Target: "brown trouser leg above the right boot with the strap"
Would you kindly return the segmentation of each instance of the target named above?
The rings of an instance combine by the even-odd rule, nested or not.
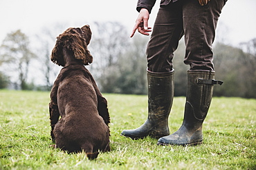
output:
[[[214,70],[212,43],[225,3],[226,0],[212,0],[206,6],[200,6],[198,1],[184,1],[184,63],[190,65],[190,70]]]

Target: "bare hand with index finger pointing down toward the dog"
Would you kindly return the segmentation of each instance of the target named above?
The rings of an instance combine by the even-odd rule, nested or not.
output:
[[[134,36],[134,33],[138,29],[138,32],[143,35],[149,35],[148,32],[151,32],[151,28],[147,26],[147,23],[149,21],[149,11],[145,8],[141,8],[140,14],[138,14],[138,18],[136,20],[136,23],[134,25],[134,29],[131,32],[131,36]]]

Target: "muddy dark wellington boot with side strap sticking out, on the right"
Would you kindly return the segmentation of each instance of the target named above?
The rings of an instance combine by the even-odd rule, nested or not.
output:
[[[212,100],[214,71],[188,70],[187,98],[183,124],[178,131],[158,140],[158,145],[198,145],[203,142],[202,124]]]

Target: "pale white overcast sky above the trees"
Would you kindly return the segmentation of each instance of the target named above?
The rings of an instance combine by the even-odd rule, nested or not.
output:
[[[160,1],[156,1],[150,16],[151,26]],[[93,21],[119,21],[130,33],[138,16],[136,3],[137,0],[0,0],[0,43],[12,31],[21,29],[33,35],[61,22],[68,23],[68,27],[80,27]],[[228,0],[217,28],[225,43],[238,45],[256,38],[255,9],[256,0]]]

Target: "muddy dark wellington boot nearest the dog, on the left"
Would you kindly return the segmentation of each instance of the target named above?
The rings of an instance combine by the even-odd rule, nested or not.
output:
[[[167,73],[147,71],[148,117],[137,129],[122,131],[121,135],[132,139],[160,138],[170,134],[168,116],[174,97],[174,70]]]

